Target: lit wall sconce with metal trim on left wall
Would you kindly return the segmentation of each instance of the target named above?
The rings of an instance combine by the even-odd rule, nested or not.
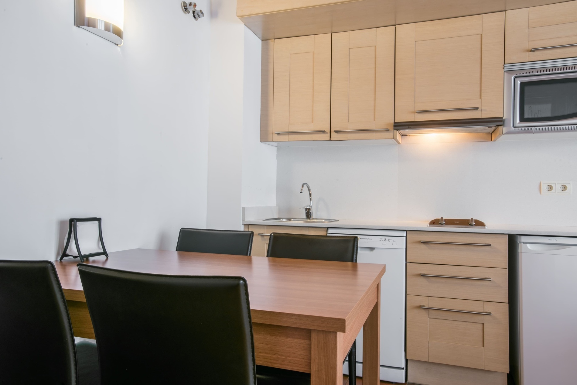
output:
[[[74,0],[74,25],[122,46],[124,0]]]

